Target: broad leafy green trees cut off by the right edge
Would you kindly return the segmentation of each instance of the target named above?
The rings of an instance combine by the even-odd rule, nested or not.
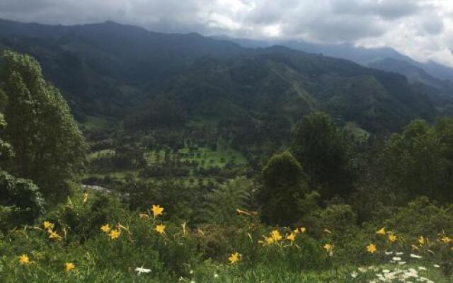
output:
[[[384,180],[400,201],[414,195],[452,200],[453,120],[430,126],[415,120],[401,134],[393,134],[382,152]]]

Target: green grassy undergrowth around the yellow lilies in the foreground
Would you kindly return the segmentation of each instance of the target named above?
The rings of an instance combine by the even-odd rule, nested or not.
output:
[[[119,202],[106,200],[101,195],[84,195],[76,190],[66,203],[48,212],[35,225],[0,233],[0,282],[450,282],[442,275],[442,269],[434,266],[440,258],[430,258],[432,253],[425,248],[450,250],[452,243],[432,241],[424,248],[420,244],[420,256],[423,257],[414,259],[409,255],[413,241],[386,243],[386,236],[376,236],[373,231],[370,236],[381,237],[382,249],[374,254],[367,253],[363,258],[357,257],[355,263],[348,264],[341,256],[340,245],[338,250],[333,248],[333,253],[326,253],[323,250],[325,239],[312,238],[299,230],[290,240],[285,235],[292,229],[260,226],[258,217],[246,213],[235,214],[241,224],[229,227],[236,230],[232,246],[226,255],[214,260],[200,256],[200,243],[206,241],[205,237],[210,238],[209,233],[185,226],[185,222],[180,225],[166,220],[166,210],[161,215],[153,215],[152,210],[131,212]],[[234,209],[231,213],[235,213]],[[111,218],[112,214],[116,215],[115,219]],[[50,221],[50,229],[45,229],[44,221]],[[108,231],[100,229],[107,224]],[[166,225],[165,233],[156,231],[160,224]],[[257,229],[258,226],[261,229]],[[113,229],[120,231],[116,238],[110,236]],[[50,238],[52,231],[59,238]],[[263,233],[276,240],[268,244],[259,243]],[[401,235],[400,238],[408,237]],[[428,242],[424,244],[428,245]],[[366,243],[358,245],[366,253]],[[384,253],[388,250],[404,250],[404,253]],[[241,255],[231,264],[228,255],[235,252]],[[21,255],[28,257],[30,262],[21,265]],[[394,255],[401,259],[395,261]],[[402,260],[407,263],[398,264]],[[64,270],[68,262],[74,264],[74,270]],[[309,267],[307,262],[316,263]],[[357,265],[361,262],[366,263]],[[135,269],[141,266],[149,268],[150,272],[139,275]],[[404,275],[410,268],[415,270],[412,272],[415,275],[406,276],[408,279],[372,281],[394,271],[397,272],[394,275]]]

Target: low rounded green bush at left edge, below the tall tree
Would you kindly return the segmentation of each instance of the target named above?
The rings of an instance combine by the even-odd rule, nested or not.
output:
[[[0,171],[0,224],[2,229],[32,223],[45,212],[39,188],[30,180]]]

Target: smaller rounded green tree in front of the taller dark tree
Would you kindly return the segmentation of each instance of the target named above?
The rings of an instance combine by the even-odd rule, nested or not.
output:
[[[285,151],[272,156],[261,174],[263,186],[258,192],[258,201],[263,220],[269,224],[294,224],[302,216],[299,203],[308,192],[302,166]]]

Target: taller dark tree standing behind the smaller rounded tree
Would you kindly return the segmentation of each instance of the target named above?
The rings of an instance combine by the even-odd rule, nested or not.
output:
[[[351,149],[340,127],[323,112],[303,117],[293,133],[291,152],[324,198],[351,192]]]

